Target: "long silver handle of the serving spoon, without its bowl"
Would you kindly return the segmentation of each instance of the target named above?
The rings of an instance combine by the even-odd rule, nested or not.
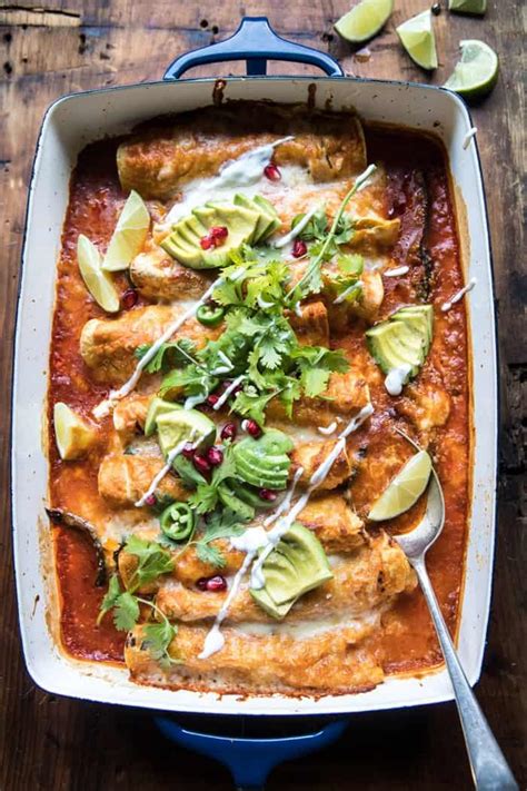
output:
[[[517,791],[518,784],[460,665],[437,603],[436,594],[425,566],[425,560],[422,557],[412,558],[410,563],[419,579],[450,674],[474,784],[478,791]]]

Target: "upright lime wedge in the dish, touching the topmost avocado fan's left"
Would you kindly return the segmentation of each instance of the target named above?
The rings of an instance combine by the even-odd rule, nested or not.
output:
[[[107,271],[128,269],[130,261],[142,249],[150,227],[150,215],[145,201],[133,189],[117,221],[102,261]]]

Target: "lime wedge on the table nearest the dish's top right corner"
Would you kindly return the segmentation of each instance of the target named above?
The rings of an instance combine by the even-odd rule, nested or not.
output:
[[[461,60],[459,60],[445,88],[468,99],[489,93],[498,79],[498,56],[485,41],[470,39],[460,41]]]

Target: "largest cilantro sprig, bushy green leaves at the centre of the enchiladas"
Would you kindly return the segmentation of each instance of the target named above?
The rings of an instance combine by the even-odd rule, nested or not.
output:
[[[344,373],[348,363],[341,352],[298,342],[286,315],[287,285],[284,261],[262,264],[245,248],[235,265],[223,270],[223,283],[213,294],[226,308],[223,333],[196,352],[193,363],[171,370],[161,383],[160,395],[182,392],[199,403],[222,379],[243,374],[242,389],[232,395],[231,409],[264,425],[272,398],[280,398],[291,416],[294,403],[302,394],[321,394],[331,372]]]

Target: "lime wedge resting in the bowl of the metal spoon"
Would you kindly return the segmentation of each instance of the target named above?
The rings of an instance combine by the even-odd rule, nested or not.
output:
[[[371,522],[391,520],[417,503],[426,490],[431,473],[431,458],[419,451],[395,476],[368,514]]]

